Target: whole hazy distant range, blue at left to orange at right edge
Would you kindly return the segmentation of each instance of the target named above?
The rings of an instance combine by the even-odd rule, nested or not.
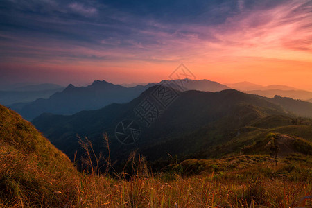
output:
[[[167,85],[168,87],[177,89],[181,92],[187,90],[199,90],[205,92],[218,92],[224,89],[229,89],[230,87],[239,89],[242,92],[248,94],[258,94],[261,96],[266,96],[268,98],[273,98],[275,95],[290,97],[295,99],[300,99],[302,101],[309,100],[312,97],[312,92],[303,91],[295,89],[293,87],[288,87],[284,85],[269,85],[261,86],[255,85],[253,83],[243,82],[222,85],[217,82],[210,80],[162,80],[159,83],[150,83],[147,85],[136,85],[135,87],[123,87],[121,85],[114,85],[112,83],[107,83],[105,80],[96,80],[92,85],[87,87],[75,87],[73,85],[68,85],[61,92],[56,92],[51,95],[49,98],[46,98],[47,95],[50,95],[51,92],[42,92],[42,91],[33,91],[33,92],[3,92],[5,94],[5,101],[1,100],[0,92],[0,102],[2,101],[3,105],[8,105],[13,110],[16,110],[23,116],[25,119],[32,120],[36,116],[46,112],[52,114],[75,114],[81,110],[97,110],[111,103],[127,103],[133,98],[136,98],[148,89],[155,85]],[[46,86],[28,86],[24,89],[38,89],[38,87],[53,87],[49,84]],[[253,89],[253,90],[251,90]],[[257,89],[257,90],[256,90]],[[60,89],[57,89],[59,91]],[[55,92],[55,91],[54,91]],[[44,93],[43,98],[38,98],[36,101],[32,102],[17,102],[15,94],[23,96],[24,99],[33,99],[31,96],[35,94],[38,96],[39,93]],[[21,97],[19,98],[21,100]],[[12,104],[13,103],[13,104]],[[302,115],[302,114],[301,114]]]

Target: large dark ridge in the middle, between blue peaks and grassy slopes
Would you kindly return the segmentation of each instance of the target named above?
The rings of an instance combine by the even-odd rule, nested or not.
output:
[[[143,150],[149,159],[164,157],[166,153],[160,154],[162,151],[159,150],[156,151],[159,153],[157,156],[149,155],[153,151],[148,149],[158,145],[159,142],[162,144],[162,142],[166,143],[172,139],[174,143],[177,142],[176,146],[178,147],[180,146],[179,138],[182,139],[183,135],[189,135],[191,132],[205,127],[207,140],[201,140],[206,137],[200,136],[188,144],[189,153],[196,153],[205,147],[205,144],[228,141],[237,134],[237,129],[249,125],[252,121],[272,114],[286,115],[283,108],[272,103],[270,99],[244,94],[234,89],[226,89],[221,92],[189,90],[181,92],[180,96],[164,111],[162,116],[159,116],[154,123],[151,123],[150,127],[147,127],[134,110],[157,87],[148,88],[130,103],[114,103],[100,110],[82,111],[71,116],[42,114],[33,120],[33,124],[69,157],[75,153],[73,150],[76,151],[78,148],[76,135],[89,137],[92,143],[96,144],[97,152],[101,150],[105,152],[105,149],[101,148],[101,138],[103,133],[107,132],[112,139],[110,144],[112,159],[121,162],[128,157],[131,150],[137,148]],[[141,139],[132,146],[123,146],[116,140],[115,127],[124,119],[137,121],[141,126]],[[291,122],[291,119],[288,121]],[[218,128],[214,129],[214,126],[218,126]],[[190,137],[193,138],[193,136]],[[67,145],[64,146],[64,144]],[[173,148],[171,152],[177,153],[179,148],[171,147]],[[183,149],[181,153],[188,152],[184,149],[185,147],[180,146],[180,148]],[[116,153],[119,155],[117,156]]]

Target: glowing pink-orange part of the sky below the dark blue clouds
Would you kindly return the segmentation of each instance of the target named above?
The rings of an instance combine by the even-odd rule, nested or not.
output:
[[[96,44],[33,35],[21,39],[3,31],[0,37],[12,41],[0,42],[0,81],[150,83],[168,79],[184,63],[197,79],[312,91],[311,1],[281,1],[265,9],[244,8],[244,2],[219,24],[143,19],[144,27],[131,28],[132,38],[100,38]],[[99,14],[95,8],[79,8],[82,15]],[[137,21],[131,15],[128,19]]]

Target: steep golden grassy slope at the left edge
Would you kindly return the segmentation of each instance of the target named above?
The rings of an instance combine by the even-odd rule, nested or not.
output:
[[[64,207],[76,196],[69,158],[2,105],[0,161],[0,207]]]

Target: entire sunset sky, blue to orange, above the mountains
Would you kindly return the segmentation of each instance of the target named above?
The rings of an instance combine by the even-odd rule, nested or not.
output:
[[[312,0],[1,0],[0,83],[196,79],[312,91]]]

